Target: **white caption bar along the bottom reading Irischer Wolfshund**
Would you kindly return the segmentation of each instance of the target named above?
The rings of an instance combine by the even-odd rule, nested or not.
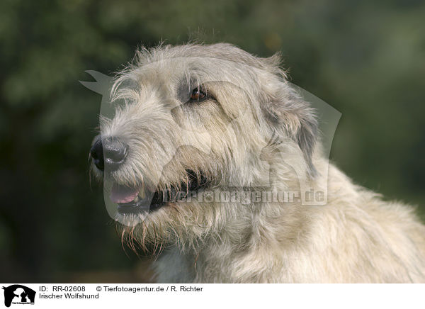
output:
[[[422,309],[425,292],[424,284],[3,283],[1,286],[4,287],[1,305],[13,309],[187,309],[217,305],[220,308]]]

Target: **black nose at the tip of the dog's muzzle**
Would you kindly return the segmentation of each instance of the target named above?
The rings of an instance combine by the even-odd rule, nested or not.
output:
[[[124,163],[128,146],[116,137],[99,138],[91,146],[90,155],[98,169],[114,171]]]

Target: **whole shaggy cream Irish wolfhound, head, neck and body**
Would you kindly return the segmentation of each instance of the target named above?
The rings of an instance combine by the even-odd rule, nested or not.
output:
[[[328,167],[278,55],[141,50],[112,97],[93,169],[123,240],[158,254],[157,281],[425,282],[425,226]],[[327,203],[303,203],[306,187]]]

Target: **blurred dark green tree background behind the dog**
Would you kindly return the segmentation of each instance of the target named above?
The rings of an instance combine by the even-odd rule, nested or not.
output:
[[[342,113],[336,164],[424,209],[424,1],[3,0],[0,12],[0,281],[146,280],[89,184],[101,96],[79,80],[160,40],[281,50],[291,81]]]

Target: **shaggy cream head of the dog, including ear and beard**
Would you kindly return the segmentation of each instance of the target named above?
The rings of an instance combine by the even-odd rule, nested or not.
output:
[[[229,44],[141,50],[115,79],[111,107],[92,167],[117,218],[142,223],[144,242],[205,235],[254,207],[193,198],[201,191],[262,186],[272,164],[314,174],[317,123],[278,55]]]

